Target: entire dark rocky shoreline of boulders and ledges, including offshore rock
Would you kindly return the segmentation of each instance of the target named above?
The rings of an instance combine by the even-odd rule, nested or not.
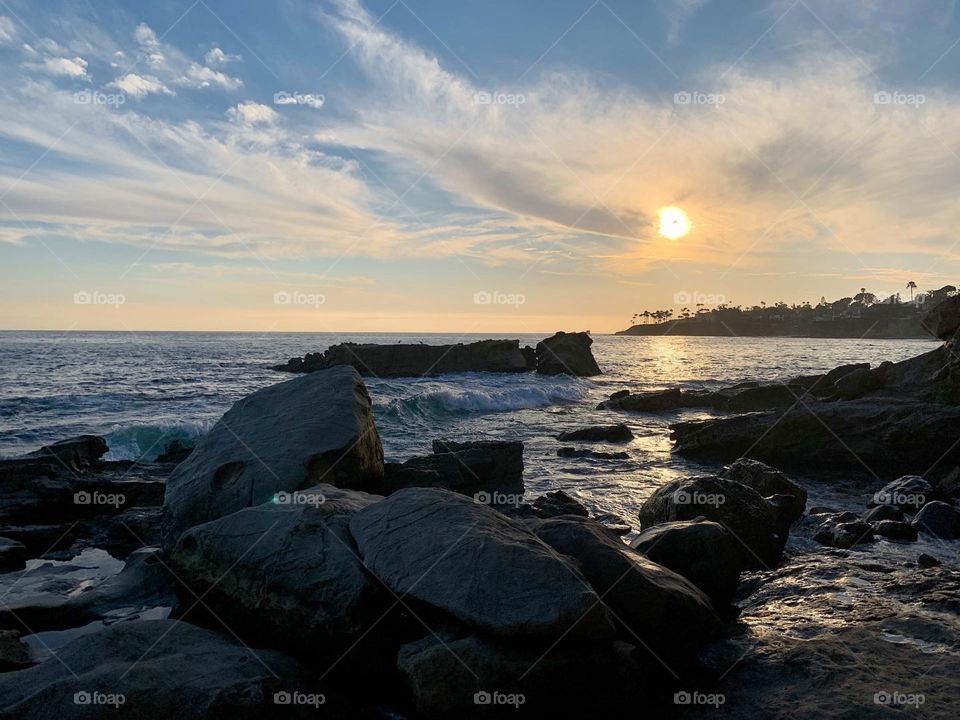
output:
[[[105,462],[96,436],[0,461],[0,717],[953,717],[960,312],[939,312],[944,345],[903,363],[615,393],[558,443],[725,413],[671,427],[724,470],[635,519],[528,497],[518,440],[384,462],[361,376],[430,374],[429,346],[291,361],[178,462]],[[479,364],[595,374],[583,338]],[[794,468],[869,501],[808,507]]]

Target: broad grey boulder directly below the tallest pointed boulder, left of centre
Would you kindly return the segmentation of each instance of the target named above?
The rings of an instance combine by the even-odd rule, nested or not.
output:
[[[282,494],[187,530],[171,562],[206,608],[252,644],[326,663],[349,651],[344,665],[355,666],[354,643],[364,637],[369,652],[366,631],[390,598],[360,562],[349,524],[379,500],[332,485]]]

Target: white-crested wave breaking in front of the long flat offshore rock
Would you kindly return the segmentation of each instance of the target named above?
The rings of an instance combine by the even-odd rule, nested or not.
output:
[[[581,400],[586,388],[577,385],[526,386],[498,390],[432,390],[391,400],[384,413],[392,416],[465,415],[549,407]]]

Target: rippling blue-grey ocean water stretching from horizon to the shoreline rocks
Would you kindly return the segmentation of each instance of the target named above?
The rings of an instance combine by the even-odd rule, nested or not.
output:
[[[107,438],[110,459],[150,460],[173,439],[194,442],[235,400],[290,379],[269,365],[292,356],[344,341],[443,344],[484,337],[491,336],[0,332],[0,456],[95,433]],[[521,345],[543,337],[519,336]],[[667,429],[677,420],[710,413],[596,410],[615,390],[712,389],[848,362],[897,361],[936,347],[925,340],[599,335],[594,341],[604,370],[597,378],[533,373],[367,378],[387,459],[429,453],[435,438],[522,440],[528,491],[562,488],[595,511],[629,520],[665,482],[715,469],[672,456]],[[625,446],[589,446],[626,450],[628,460],[556,456],[559,432],[614,422],[626,422],[635,439]]]

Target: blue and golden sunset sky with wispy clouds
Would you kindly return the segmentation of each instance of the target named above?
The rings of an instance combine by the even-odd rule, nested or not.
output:
[[[958,70],[956,0],[0,0],[0,328],[957,284]]]

